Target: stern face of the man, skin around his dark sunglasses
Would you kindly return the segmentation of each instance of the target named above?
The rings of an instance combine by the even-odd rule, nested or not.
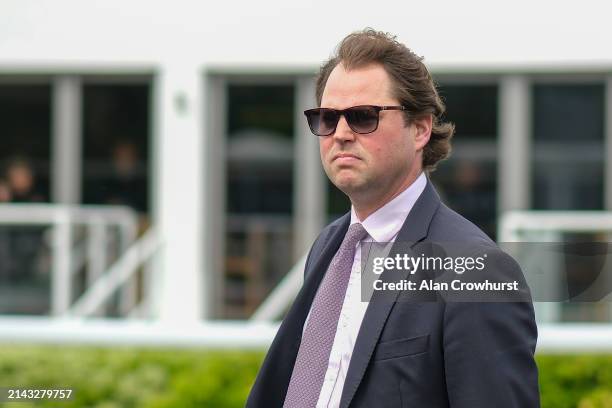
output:
[[[381,65],[347,71],[338,64],[331,72],[321,107],[346,109],[358,105],[399,105]],[[319,137],[321,161],[330,180],[353,203],[382,200],[384,204],[386,198],[408,187],[420,171],[421,153],[417,149],[423,145],[415,143],[415,135],[415,125],[411,122],[405,126],[401,111],[381,111],[376,131],[364,135],[353,132],[342,116],[335,133]]]

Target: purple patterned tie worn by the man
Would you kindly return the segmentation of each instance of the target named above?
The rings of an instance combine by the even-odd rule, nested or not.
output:
[[[355,247],[367,235],[363,225],[352,224],[329,264],[312,302],[285,396],[285,408],[310,408],[317,405],[351,275]]]

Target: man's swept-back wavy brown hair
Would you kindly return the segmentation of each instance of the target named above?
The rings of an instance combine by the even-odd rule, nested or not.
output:
[[[423,57],[414,54],[388,33],[366,28],[349,34],[342,40],[335,55],[321,66],[316,85],[319,106],[327,79],[339,63],[346,70],[370,64],[382,65],[391,78],[393,96],[408,108],[405,111],[406,123],[411,117],[426,114],[433,117],[431,138],[423,149],[423,169],[433,171],[440,160],[448,157],[455,126],[442,120],[446,108],[423,64]]]

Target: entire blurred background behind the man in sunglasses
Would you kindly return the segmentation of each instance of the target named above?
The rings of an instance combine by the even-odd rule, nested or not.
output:
[[[439,85],[451,208],[500,242],[609,242],[609,11],[0,0],[0,386],[243,405],[305,253],[350,206],[302,112],[366,26]],[[612,303],[536,312],[543,406],[612,406]]]

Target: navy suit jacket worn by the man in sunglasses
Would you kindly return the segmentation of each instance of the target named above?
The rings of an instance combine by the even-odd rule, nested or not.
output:
[[[346,214],[313,244],[304,284],[270,346],[247,407],[282,407],[304,321],[349,223]],[[442,204],[428,181],[396,242],[414,246],[449,241],[487,249],[505,280],[516,279],[526,287],[518,264]],[[388,272],[383,281],[402,278]],[[540,406],[534,361],[537,327],[530,297],[523,302],[389,302],[377,301],[379,293],[374,293],[356,339],[342,408]],[[403,295],[397,291],[396,296]]]

